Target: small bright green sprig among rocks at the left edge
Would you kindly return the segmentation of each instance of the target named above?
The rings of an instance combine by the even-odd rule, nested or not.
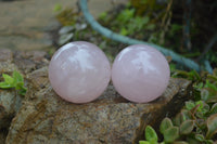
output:
[[[26,94],[27,89],[24,87],[24,78],[18,71],[13,71],[12,77],[7,74],[2,74],[2,77],[4,81],[0,82],[1,89],[15,88],[21,95]]]

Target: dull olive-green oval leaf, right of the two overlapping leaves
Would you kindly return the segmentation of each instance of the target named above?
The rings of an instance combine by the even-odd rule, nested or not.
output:
[[[193,128],[194,128],[194,121],[186,120],[179,127],[180,134],[189,134],[192,132]]]

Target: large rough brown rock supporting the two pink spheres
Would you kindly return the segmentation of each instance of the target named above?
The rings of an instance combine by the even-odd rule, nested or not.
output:
[[[33,58],[35,56],[29,56],[30,54],[17,55],[27,55],[35,66],[26,73],[28,92],[12,120],[7,144],[137,143],[146,125],[155,126],[165,115],[170,116],[179,110],[190,95],[190,81],[170,79],[165,93],[149,104],[126,101],[116,93],[112,84],[94,102],[72,104],[53,92],[44,58],[41,57],[36,63]],[[25,61],[24,58],[23,62]],[[25,66],[17,67],[28,68]]]

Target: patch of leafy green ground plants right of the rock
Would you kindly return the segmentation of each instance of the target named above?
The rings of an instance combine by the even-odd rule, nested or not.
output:
[[[174,118],[164,118],[159,125],[163,136],[159,144],[214,144],[217,142],[217,69],[214,74],[177,70],[173,77],[194,81],[194,99],[187,101]],[[148,126],[145,141],[140,144],[158,144],[155,130]]]

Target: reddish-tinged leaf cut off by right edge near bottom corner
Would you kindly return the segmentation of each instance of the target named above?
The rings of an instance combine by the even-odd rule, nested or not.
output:
[[[217,114],[214,114],[207,118],[206,126],[208,128],[206,139],[212,139],[212,136],[217,133]]]

